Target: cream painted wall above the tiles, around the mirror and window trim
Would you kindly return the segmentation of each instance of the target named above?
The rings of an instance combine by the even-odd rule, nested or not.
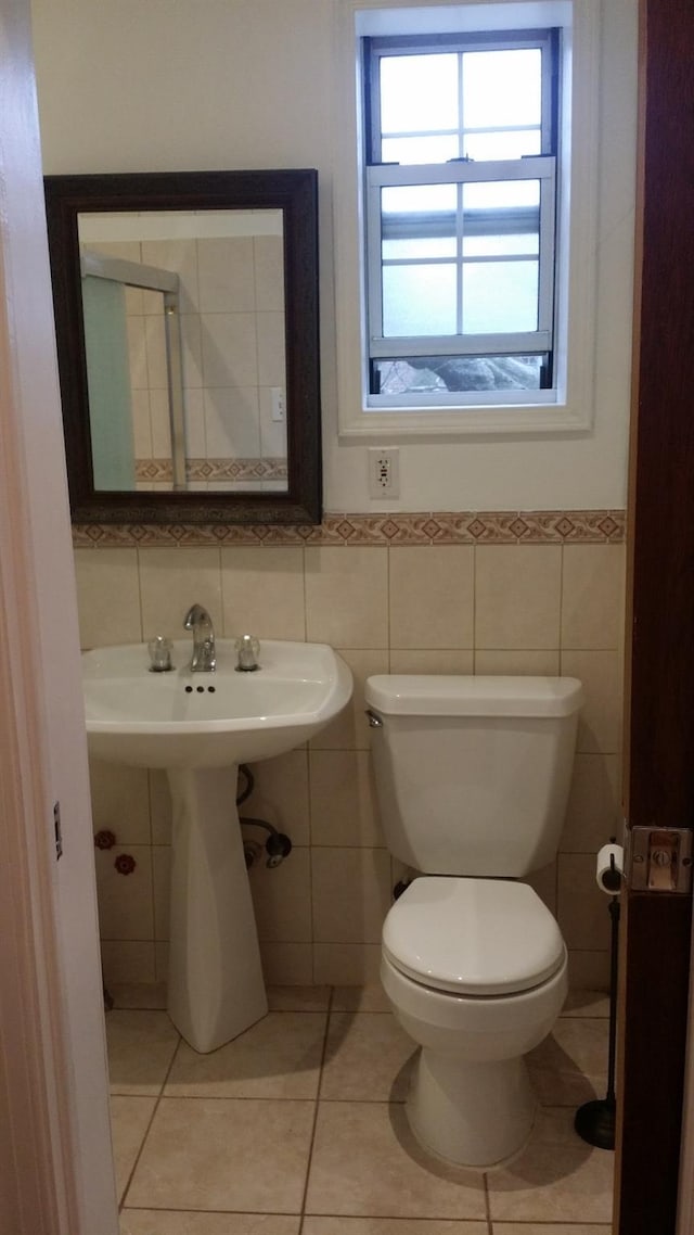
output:
[[[336,432],[338,2],[33,0],[32,9],[47,172],[319,169],[325,504],[377,511],[384,506],[367,494],[366,445]],[[636,0],[604,4],[594,429],[562,440],[401,445],[393,509],[624,506],[636,11]]]

